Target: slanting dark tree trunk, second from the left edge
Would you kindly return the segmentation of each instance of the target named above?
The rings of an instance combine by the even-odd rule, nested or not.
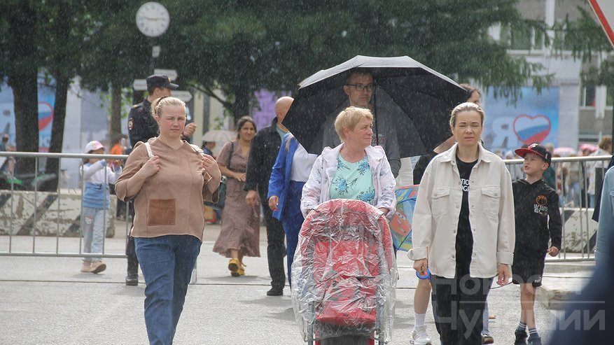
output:
[[[64,120],[66,119],[66,104],[68,99],[68,87],[70,80],[67,76],[56,74],[55,78],[55,105],[53,106],[53,122],[51,125],[51,143],[49,152],[61,153],[64,145]],[[60,160],[57,158],[47,158],[45,172],[55,174],[57,178],[46,183],[45,190],[57,190],[57,183],[60,178]]]

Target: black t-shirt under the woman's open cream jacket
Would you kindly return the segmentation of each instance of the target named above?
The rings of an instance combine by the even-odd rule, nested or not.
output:
[[[456,157],[456,166],[459,167],[461,187],[463,188],[459,227],[456,231],[456,272],[462,275],[469,274],[471,254],[473,253],[473,234],[471,233],[471,223],[469,222],[469,176],[471,175],[471,169],[473,169],[476,163],[477,160],[467,163]]]

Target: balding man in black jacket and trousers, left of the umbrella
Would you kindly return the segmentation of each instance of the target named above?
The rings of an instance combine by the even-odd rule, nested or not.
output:
[[[269,179],[271,171],[279,153],[281,139],[288,129],[281,125],[286,117],[292,101],[291,97],[281,97],[275,102],[275,115],[272,125],[260,129],[253,137],[247,160],[247,175],[243,190],[247,191],[245,197],[248,204],[256,206],[258,202],[263,202],[263,211],[267,223],[267,258],[269,262],[269,274],[271,275],[271,290],[267,291],[268,296],[284,295],[286,286],[286,274],[284,273],[284,228],[281,222],[273,218],[272,211],[266,202],[269,193]]]

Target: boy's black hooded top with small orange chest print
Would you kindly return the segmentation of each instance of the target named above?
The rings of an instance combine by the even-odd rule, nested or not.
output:
[[[516,218],[516,248],[514,257],[521,253],[536,253],[552,246],[561,249],[561,213],[559,195],[543,180],[512,183]]]

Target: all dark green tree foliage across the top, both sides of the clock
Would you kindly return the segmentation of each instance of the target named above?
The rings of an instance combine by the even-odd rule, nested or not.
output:
[[[545,32],[543,22],[520,16],[516,0],[160,2],[171,24],[155,40],[162,46],[156,66],[176,69],[180,85],[217,98],[235,118],[249,114],[254,92],[294,91],[300,80],[355,55],[409,55],[459,81],[512,96],[527,83],[541,87],[550,81],[539,64],[508,55],[520,38],[495,41],[489,35],[496,25]],[[129,87],[148,75],[151,42],[134,24],[141,4],[9,0],[10,10],[0,15],[0,39],[7,47],[0,73],[10,81],[15,71],[48,71],[58,81],[81,76],[90,89]],[[27,102],[36,104],[32,96]],[[116,122],[113,116],[113,128]]]

